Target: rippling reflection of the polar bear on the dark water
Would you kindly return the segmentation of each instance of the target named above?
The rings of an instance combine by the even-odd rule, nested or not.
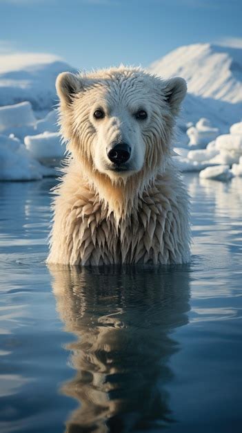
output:
[[[61,391],[79,400],[65,432],[159,432],[175,422],[165,385],[172,332],[188,323],[190,273],[174,268],[50,266],[77,374]]]

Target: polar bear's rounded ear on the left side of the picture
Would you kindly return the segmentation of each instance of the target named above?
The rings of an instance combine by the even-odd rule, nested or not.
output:
[[[70,72],[60,73],[57,77],[55,86],[61,103],[65,105],[70,104],[72,102],[72,96],[75,93],[78,93],[82,88],[79,77]]]

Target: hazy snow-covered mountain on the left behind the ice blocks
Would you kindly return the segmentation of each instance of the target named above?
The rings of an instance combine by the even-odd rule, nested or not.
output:
[[[54,55],[0,55],[0,106],[30,101],[34,111],[50,111],[57,103],[54,82],[63,71],[75,70]]]

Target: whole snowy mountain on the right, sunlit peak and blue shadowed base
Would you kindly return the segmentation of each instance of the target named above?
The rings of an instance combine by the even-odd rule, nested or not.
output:
[[[179,75],[188,83],[183,120],[209,118],[221,131],[242,118],[242,48],[194,44],[181,46],[149,71],[167,78]]]

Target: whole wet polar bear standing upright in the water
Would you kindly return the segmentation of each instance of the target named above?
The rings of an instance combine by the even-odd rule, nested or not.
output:
[[[190,261],[188,194],[172,163],[182,78],[119,66],[57,77],[68,162],[55,190],[48,263]]]

